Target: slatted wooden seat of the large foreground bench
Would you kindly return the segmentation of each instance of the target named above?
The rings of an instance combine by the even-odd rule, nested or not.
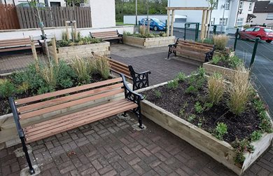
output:
[[[107,103],[108,104],[108,103]],[[106,111],[112,111],[115,109],[119,109],[120,107],[126,107],[128,105],[135,104],[134,102],[130,102],[127,100],[123,100],[122,103],[120,104],[111,104],[110,106],[107,107],[101,107],[98,109],[87,109],[81,114],[73,114],[73,116],[62,116],[61,118],[53,119],[55,121],[46,121],[46,124],[43,124],[43,126],[38,126],[34,128],[29,128],[27,131],[25,131],[25,136],[30,137],[34,135],[38,135],[39,133],[45,133],[47,130],[53,130],[55,128],[61,128],[62,126],[67,126],[69,123],[76,123],[80,119],[85,119],[84,116],[89,116],[92,114],[92,116],[98,116],[99,114],[102,114]]]

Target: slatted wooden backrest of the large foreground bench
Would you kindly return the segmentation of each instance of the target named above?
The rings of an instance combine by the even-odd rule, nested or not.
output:
[[[15,100],[15,105],[18,113],[20,113],[19,118],[28,119],[52,111],[124,93],[124,91],[122,78],[109,79]]]

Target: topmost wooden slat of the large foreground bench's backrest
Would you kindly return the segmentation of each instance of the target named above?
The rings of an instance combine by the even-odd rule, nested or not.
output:
[[[64,90],[58,90],[58,91],[52,92],[52,93],[45,93],[45,94],[42,94],[42,95],[36,95],[34,97],[26,97],[26,98],[23,98],[23,99],[20,99],[20,100],[15,100],[15,104],[19,105],[19,104],[25,104],[25,103],[29,103],[29,102],[36,102],[38,100],[43,100],[43,99],[50,98],[50,97],[56,97],[56,96],[59,96],[59,95],[74,93],[74,92],[78,92],[80,90],[96,88],[96,87],[99,87],[99,86],[105,86],[105,85],[108,85],[108,84],[111,84],[111,83],[117,83],[119,81],[122,81],[122,79],[121,78],[109,79],[109,80],[106,80],[106,81],[100,81],[100,82],[97,82],[97,83],[90,83],[90,84],[87,84],[87,85],[78,86],[78,87],[74,87],[74,88],[67,88],[67,89],[64,89]]]

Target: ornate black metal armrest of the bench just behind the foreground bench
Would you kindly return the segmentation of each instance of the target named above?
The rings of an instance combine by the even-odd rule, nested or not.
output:
[[[151,74],[150,71],[137,73],[134,72],[134,69],[132,65],[128,65],[131,77],[133,79],[133,90],[138,90],[141,88],[146,88],[149,86],[149,74]]]

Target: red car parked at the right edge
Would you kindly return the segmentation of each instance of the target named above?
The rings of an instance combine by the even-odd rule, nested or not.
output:
[[[267,43],[273,40],[273,30],[266,27],[249,27],[247,29],[239,32],[239,39],[255,39],[255,37],[260,38]]]

